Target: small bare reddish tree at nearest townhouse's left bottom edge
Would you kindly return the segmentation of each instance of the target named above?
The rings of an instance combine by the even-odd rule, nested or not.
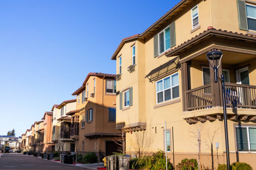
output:
[[[124,123],[120,123],[120,129],[117,130],[118,133],[114,134],[115,137],[113,141],[118,145],[118,151],[124,155],[125,154],[125,131]]]

